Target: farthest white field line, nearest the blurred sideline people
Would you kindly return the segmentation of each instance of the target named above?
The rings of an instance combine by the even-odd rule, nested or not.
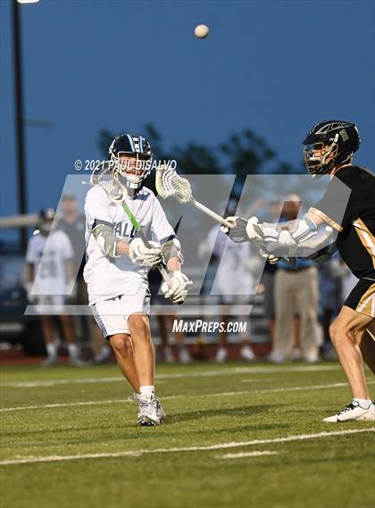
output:
[[[238,374],[267,374],[268,372],[314,372],[314,371],[338,371],[339,365],[306,365],[301,367],[239,367],[222,371],[197,371],[197,372],[171,372],[169,374],[157,374],[156,379],[186,379],[186,378],[212,378],[216,376],[237,376]],[[10,381],[0,384],[0,387],[54,387],[56,385],[71,385],[81,383],[116,383],[122,382],[121,376],[111,378],[80,378],[80,379],[50,379],[39,381]]]

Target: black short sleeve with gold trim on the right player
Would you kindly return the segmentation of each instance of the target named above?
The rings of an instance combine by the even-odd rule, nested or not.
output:
[[[329,181],[321,201],[310,208],[329,226],[341,232],[352,224],[362,212],[361,195],[356,188],[354,170],[343,168]]]

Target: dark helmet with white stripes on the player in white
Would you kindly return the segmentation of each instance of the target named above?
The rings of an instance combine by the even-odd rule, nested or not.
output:
[[[136,173],[128,174],[126,168],[121,166],[121,154],[137,155]],[[153,160],[152,148],[146,138],[139,134],[121,134],[113,139],[109,155],[114,162],[114,176],[121,186],[135,192],[139,191],[150,174]]]

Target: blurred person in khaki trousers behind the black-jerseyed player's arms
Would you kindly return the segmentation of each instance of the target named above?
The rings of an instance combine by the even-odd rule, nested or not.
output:
[[[296,219],[301,206],[299,196],[286,198],[280,221]],[[291,359],[295,346],[296,315],[300,320],[300,348],[306,362],[319,360],[317,346],[318,273],[314,262],[297,258],[296,266],[279,261],[275,276],[275,333],[269,356],[271,362]]]

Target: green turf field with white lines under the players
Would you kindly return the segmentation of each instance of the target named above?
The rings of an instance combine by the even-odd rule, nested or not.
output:
[[[1,381],[2,508],[375,505],[375,424],[321,422],[350,401],[336,363],[160,366],[158,428],[114,365]]]

